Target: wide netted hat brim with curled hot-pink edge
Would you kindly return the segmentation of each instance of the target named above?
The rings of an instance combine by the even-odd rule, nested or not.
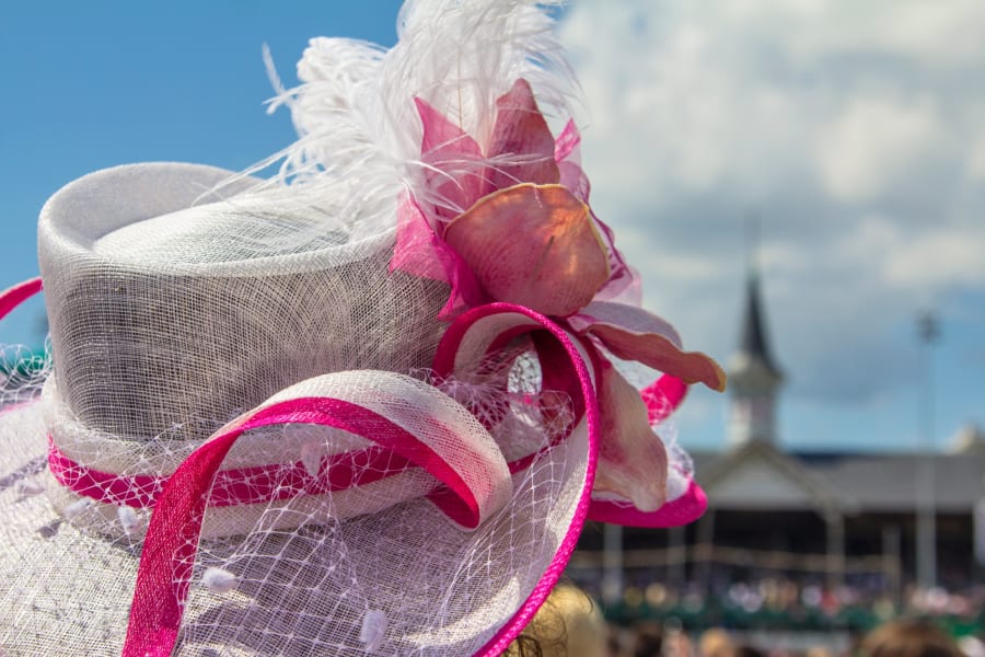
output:
[[[591,396],[572,338],[522,309],[472,313],[445,342],[462,343],[450,353],[468,360],[524,332],[559,341]],[[80,529],[55,510],[63,505],[50,495],[65,492],[44,469],[44,411],[33,402],[0,415],[0,646],[5,655],[119,653],[142,545]],[[270,506],[241,535],[202,540],[175,654],[366,654],[369,641],[381,655],[501,652],[577,543],[594,472],[594,413],[589,402],[564,440],[532,454],[512,476],[507,506],[472,532],[424,498],[335,519],[327,496],[315,517],[298,498]],[[38,485],[47,495],[30,495]],[[310,520],[273,529],[291,514]],[[235,587],[204,581],[213,568]],[[378,619],[375,639],[367,619]]]

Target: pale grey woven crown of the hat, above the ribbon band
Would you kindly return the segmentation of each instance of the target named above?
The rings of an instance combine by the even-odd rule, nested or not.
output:
[[[392,230],[359,235],[347,230],[358,217],[343,217],[325,231],[338,199],[244,196],[250,180],[225,189],[239,196],[201,203],[231,176],[121,166],[45,206],[39,262],[58,392],[83,425],[204,439],[310,377],[430,364],[443,286],[390,274]]]

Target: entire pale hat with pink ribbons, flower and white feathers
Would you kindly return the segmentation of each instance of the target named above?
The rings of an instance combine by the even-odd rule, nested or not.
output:
[[[390,51],[312,42],[273,178],[137,164],[47,203],[0,654],[497,654],[587,518],[702,512],[651,426],[720,370],[635,300],[544,119],[566,70],[538,5],[410,2]],[[667,373],[641,397],[625,359]]]

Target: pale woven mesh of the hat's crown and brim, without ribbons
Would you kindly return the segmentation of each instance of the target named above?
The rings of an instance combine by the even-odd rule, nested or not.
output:
[[[131,518],[129,507],[59,485],[44,466],[47,431],[86,465],[164,473],[230,418],[298,381],[430,365],[448,290],[390,274],[392,234],[294,240],[289,211],[242,198],[181,211],[223,175],[173,164],[111,170],[46,206],[39,244],[57,381],[44,400],[0,415],[5,657],[118,654],[134,595],[146,511]],[[251,227],[246,240],[230,219],[236,208]],[[222,219],[209,224],[212,209]],[[267,255],[264,217],[276,218]],[[304,233],[303,215],[298,226]],[[171,238],[186,242],[167,253]],[[509,354],[517,365],[482,381],[506,391],[495,400],[501,408],[484,412],[491,397],[476,393],[470,410],[498,418],[489,430],[503,452],[536,452],[570,427],[511,400],[566,402],[541,390],[529,351]],[[453,381],[465,396],[479,390],[467,374]],[[264,429],[244,436],[223,468],[358,443],[323,427]],[[175,654],[471,654],[549,567],[583,493],[587,451],[582,425],[514,474],[508,505],[473,532],[416,497],[433,486],[419,471],[345,494],[209,509]],[[278,486],[292,485],[287,466],[275,480],[280,474]],[[394,487],[414,498],[393,506]],[[370,643],[367,621],[376,632]]]

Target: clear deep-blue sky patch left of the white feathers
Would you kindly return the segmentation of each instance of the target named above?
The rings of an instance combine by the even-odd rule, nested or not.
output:
[[[265,43],[290,83],[313,36],[396,39],[396,1],[290,9],[254,0],[0,7],[0,287],[37,275],[38,210],[81,175],[142,161],[237,171],[289,145],[289,115],[264,106],[273,95]],[[33,342],[40,307],[0,323],[0,344]]]

